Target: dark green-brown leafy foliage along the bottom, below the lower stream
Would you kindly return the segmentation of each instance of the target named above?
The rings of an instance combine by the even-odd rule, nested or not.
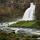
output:
[[[36,40],[36,37],[38,36],[33,36],[34,38],[32,38],[31,36],[28,35],[23,35],[23,36],[19,36],[18,34],[14,34],[14,33],[4,33],[4,32],[0,32],[0,40]]]

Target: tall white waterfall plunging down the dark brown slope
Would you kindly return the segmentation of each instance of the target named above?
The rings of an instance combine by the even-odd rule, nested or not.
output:
[[[30,7],[26,9],[22,20],[24,21],[31,21],[35,19],[35,5],[33,3],[30,3]]]

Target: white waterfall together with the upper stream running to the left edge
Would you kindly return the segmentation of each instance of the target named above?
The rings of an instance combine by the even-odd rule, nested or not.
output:
[[[13,22],[8,22],[8,23],[0,23],[0,26],[9,26],[11,24],[17,23],[18,21],[31,21],[34,20],[35,18],[35,5],[33,3],[30,3],[30,7],[28,9],[26,9],[23,18],[22,19],[18,19],[17,21],[13,21]]]

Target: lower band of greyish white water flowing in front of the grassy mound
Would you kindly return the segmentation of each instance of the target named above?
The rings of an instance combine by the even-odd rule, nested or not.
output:
[[[40,35],[40,30],[38,29],[31,29],[31,28],[13,28],[13,27],[3,27],[0,28],[1,30],[3,30],[6,33],[11,33],[14,32],[15,33],[27,33],[28,35]]]

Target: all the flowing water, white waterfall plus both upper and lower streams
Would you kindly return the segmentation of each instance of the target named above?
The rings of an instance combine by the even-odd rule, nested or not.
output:
[[[28,8],[24,15],[23,18],[18,20],[18,21],[27,21],[27,20],[34,20],[34,12],[35,11],[35,5],[33,3],[30,4],[30,8]],[[18,22],[16,21],[16,22]],[[14,24],[16,22],[8,22],[8,23],[0,23],[0,31],[4,31],[6,33],[11,33],[15,31],[15,33],[26,33],[28,35],[40,35],[40,30],[34,29],[34,28],[13,28],[13,27],[8,27],[8,25]],[[40,38],[37,38],[40,40]]]

